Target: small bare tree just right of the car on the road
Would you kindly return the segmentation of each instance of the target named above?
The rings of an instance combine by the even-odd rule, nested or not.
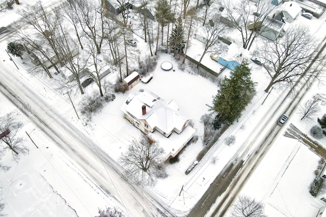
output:
[[[302,115],[301,120],[312,120],[316,113],[320,111],[319,101],[319,95],[314,95],[298,108],[298,113]]]

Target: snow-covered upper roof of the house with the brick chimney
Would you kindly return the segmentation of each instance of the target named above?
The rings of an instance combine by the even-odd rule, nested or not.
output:
[[[143,105],[146,106],[144,115]],[[159,129],[166,134],[170,134],[174,129],[181,131],[188,120],[180,114],[179,107],[174,100],[165,101],[149,90],[129,94],[121,110],[139,120],[145,119],[152,129]]]

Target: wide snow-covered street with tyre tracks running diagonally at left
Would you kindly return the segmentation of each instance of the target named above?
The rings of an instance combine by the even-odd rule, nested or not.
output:
[[[98,188],[121,204],[127,216],[176,216],[147,190],[121,179],[122,168],[64,116],[53,110],[19,73],[0,62],[0,91],[54,144],[59,146]],[[165,212],[165,215],[162,213]]]

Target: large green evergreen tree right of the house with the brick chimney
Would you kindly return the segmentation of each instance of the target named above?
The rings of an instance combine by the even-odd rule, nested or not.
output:
[[[219,129],[223,123],[231,125],[239,119],[242,110],[249,104],[255,85],[250,77],[250,69],[246,62],[231,72],[230,77],[222,81],[218,94],[213,97],[211,110],[218,113],[214,120],[214,127]]]

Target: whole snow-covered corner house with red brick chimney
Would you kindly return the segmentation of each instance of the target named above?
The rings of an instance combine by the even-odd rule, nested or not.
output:
[[[196,133],[174,100],[165,101],[149,90],[129,94],[121,111],[132,125],[159,141],[166,159],[174,158]]]

